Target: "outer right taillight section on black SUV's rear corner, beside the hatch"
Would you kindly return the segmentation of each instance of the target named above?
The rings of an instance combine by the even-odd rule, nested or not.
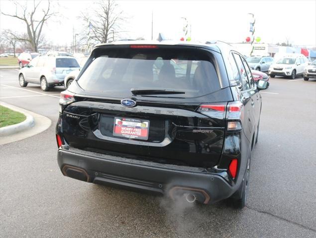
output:
[[[243,121],[243,104],[238,102],[229,102],[227,105],[227,130],[241,130]]]

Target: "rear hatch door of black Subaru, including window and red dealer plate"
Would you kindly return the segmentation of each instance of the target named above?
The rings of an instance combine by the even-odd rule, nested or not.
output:
[[[210,52],[159,47],[98,53],[69,88],[76,93],[63,111],[70,146],[175,165],[217,163],[231,92],[220,88]],[[215,105],[213,114],[202,114],[201,105]]]

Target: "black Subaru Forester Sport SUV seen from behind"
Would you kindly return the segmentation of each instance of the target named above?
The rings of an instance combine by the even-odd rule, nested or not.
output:
[[[221,42],[128,41],[95,47],[61,93],[64,176],[188,202],[246,202],[260,89]]]

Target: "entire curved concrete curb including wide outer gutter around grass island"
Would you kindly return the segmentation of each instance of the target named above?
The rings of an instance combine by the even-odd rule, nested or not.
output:
[[[0,130],[0,145],[22,140],[27,137],[36,135],[48,129],[49,126],[51,125],[51,120],[44,116],[27,111],[22,108],[15,107],[13,105],[10,105],[4,102],[0,102],[0,105],[3,107],[7,107],[13,111],[22,113],[26,116],[26,119],[18,124],[9,125],[9,126],[0,128],[2,130],[4,129],[3,131],[4,133],[2,133],[2,130]],[[24,125],[22,126],[19,125],[23,122],[25,122]],[[11,128],[5,129],[6,127],[12,127],[12,126],[13,126],[12,129]]]

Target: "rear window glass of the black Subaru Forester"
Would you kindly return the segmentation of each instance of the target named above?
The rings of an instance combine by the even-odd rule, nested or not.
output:
[[[85,91],[127,97],[132,96],[132,88],[174,90],[184,94],[150,96],[190,98],[220,89],[211,53],[204,50],[159,47],[108,49],[97,53],[99,56],[78,80]]]

